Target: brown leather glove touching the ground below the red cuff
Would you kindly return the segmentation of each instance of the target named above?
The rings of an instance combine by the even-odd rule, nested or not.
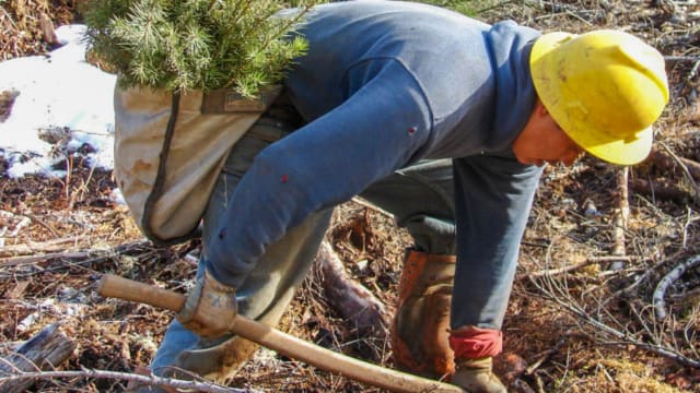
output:
[[[493,358],[458,359],[452,383],[471,393],[506,393],[505,386],[493,373]]]

